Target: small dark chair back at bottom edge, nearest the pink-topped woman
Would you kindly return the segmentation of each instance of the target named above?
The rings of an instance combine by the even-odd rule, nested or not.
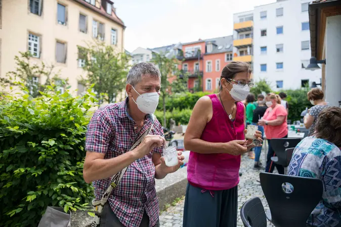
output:
[[[240,217],[245,227],[266,227],[267,218],[262,201],[258,197],[247,200],[240,209]]]

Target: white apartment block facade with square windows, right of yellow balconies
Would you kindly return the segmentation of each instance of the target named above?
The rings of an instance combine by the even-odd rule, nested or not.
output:
[[[274,90],[321,83],[321,70],[309,71],[310,0],[277,0],[253,11],[253,76]]]

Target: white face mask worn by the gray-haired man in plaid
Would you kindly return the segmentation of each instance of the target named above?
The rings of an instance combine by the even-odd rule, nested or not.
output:
[[[154,113],[157,104],[159,103],[160,95],[157,92],[140,94],[139,92],[137,92],[137,90],[135,90],[134,87],[133,89],[134,91],[136,91],[136,93],[139,94],[139,97],[136,99],[136,101],[133,98],[133,101],[137,104],[137,107],[144,113]]]

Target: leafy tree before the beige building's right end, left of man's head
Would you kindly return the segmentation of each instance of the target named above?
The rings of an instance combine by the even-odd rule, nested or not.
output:
[[[94,84],[97,98],[115,102],[117,94],[125,86],[130,57],[101,41],[88,43],[87,48],[78,48],[81,52],[78,61],[82,61],[83,69],[87,71],[87,76],[82,79],[84,85]]]

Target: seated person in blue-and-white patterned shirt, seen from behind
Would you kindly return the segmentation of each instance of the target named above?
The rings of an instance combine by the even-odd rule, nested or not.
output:
[[[321,179],[323,195],[307,226],[341,226],[341,108],[327,107],[316,131],[295,147],[288,175]]]

